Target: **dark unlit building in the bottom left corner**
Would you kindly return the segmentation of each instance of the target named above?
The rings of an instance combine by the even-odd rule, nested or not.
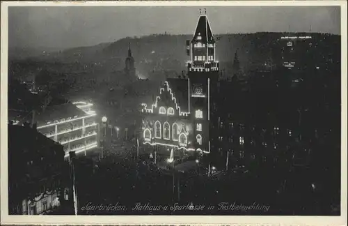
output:
[[[69,198],[69,165],[63,146],[29,124],[8,125],[8,211],[46,214]]]

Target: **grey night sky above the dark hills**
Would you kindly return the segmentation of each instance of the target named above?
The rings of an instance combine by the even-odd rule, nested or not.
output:
[[[10,47],[79,47],[151,33],[193,33],[204,7],[10,7]],[[340,34],[335,6],[207,7],[214,33],[310,31]]]

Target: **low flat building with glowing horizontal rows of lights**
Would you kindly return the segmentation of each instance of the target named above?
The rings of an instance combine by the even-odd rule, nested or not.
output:
[[[78,102],[47,107],[37,118],[37,129],[64,146],[65,158],[70,151],[86,154],[98,146],[97,114],[90,110],[92,105]]]

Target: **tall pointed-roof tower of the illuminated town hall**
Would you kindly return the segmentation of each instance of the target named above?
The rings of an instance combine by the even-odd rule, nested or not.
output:
[[[194,122],[195,147],[196,150],[205,153],[210,152],[209,123],[212,96],[219,78],[219,62],[215,57],[215,44],[207,15],[200,15],[193,38],[187,41],[187,52],[191,57],[187,67],[189,112]]]

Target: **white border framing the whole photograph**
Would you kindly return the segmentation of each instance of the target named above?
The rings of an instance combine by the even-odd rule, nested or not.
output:
[[[342,40],[342,188],[341,216],[8,216],[7,198],[7,82],[8,6],[341,6]],[[184,44],[183,44],[184,45]],[[132,1],[29,2],[1,1],[1,224],[238,224],[238,225],[347,225],[347,1]]]

